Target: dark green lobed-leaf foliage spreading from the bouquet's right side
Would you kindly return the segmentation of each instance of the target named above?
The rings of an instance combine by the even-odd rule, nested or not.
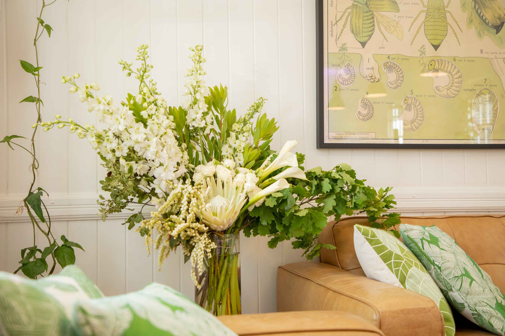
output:
[[[304,156],[298,154],[300,165]],[[391,188],[378,191],[356,178],[356,172],[347,164],[324,171],[321,167],[306,172],[308,180],[291,178],[289,188],[268,196],[264,203],[252,209],[245,219],[245,236],[269,236],[270,248],[281,241],[294,238],[293,248],[304,249],[304,255],[312,259],[322,248],[335,247],[318,242],[328,218],[366,214],[374,227],[392,229],[399,223],[399,215],[388,213],[394,208]],[[397,232],[393,230],[395,234]]]

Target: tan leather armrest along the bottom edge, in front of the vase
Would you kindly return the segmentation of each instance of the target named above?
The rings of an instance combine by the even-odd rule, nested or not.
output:
[[[239,336],[384,336],[370,322],[340,311],[290,311],[218,318]]]

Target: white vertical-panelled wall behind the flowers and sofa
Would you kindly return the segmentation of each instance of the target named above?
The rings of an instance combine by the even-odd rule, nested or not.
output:
[[[0,13],[0,138],[28,137],[33,105],[18,104],[34,93],[19,59],[32,61],[35,0],[4,0]],[[55,114],[82,123],[95,121],[60,83],[81,73],[102,92],[122,99],[135,89],[118,60],[133,60],[135,48],[150,46],[153,76],[171,104],[180,103],[190,46],[204,45],[208,85],[227,85],[230,105],[243,113],[255,98],[280,130],[274,148],[290,139],[307,155],[307,166],[345,162],[374,186],[394,186],[403,214],[502,213],[505,207],[504,150],[316,149],[316,43],[314,0],[58,0],[44,13],[54,28],[40,43],[43,119]],[[77,264],[107,295],[151,281],[192,296],[189,267],[181,254],[158,272],[143,239],[121,226],[121,215],[97,218],[98,180],[104,175],[88,145],[63,130],[37,135],[39,183],[51,198],[54,231],[78,241]],[[13,272],[19,251],[30,244],[31,225],[15,216],[29,183],[29,158],[0,146],[0,270]],[[37,241],[42,237],[37,236]],[[242,297],[246,313],[275,311],[278,265],[302,260],[289,243],[275,250],[266,238],[241,239]]]

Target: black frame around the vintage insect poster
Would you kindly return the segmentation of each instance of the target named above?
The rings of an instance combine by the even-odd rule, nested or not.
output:
[[[342,1],[342,0],[337,0]],[[368,148],[368,149],[505,149],[503,144],[369,144],[369,143],[328,143],[324,137],[324,112],[325,112],[325,83],[324,64],[327,54],[325,54],[324,43],[327,36],[324,29],[325,0],[316,0],[316,146],[318,149],[327,148]],[[505,115],[502,116],[504,118]]]

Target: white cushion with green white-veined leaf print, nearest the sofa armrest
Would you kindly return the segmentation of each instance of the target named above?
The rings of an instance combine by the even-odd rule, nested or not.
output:
[[[392,234],[367,226],[354,226],[354,246],[368,278],[429,297],[438,305],[445,334],[455,334],[449,304],[416,256]]]

